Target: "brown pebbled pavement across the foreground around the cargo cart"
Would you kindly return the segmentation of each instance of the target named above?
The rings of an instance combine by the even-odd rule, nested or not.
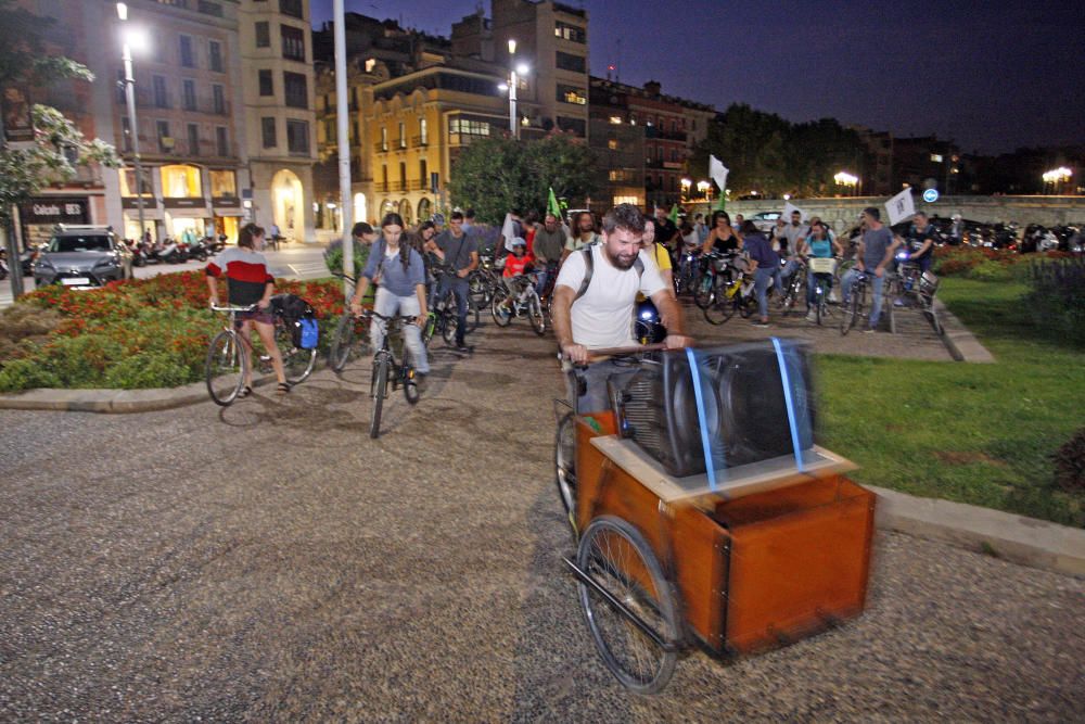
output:
[[[561,563],[552,342],[475,336],[376,441],[361,365],[0,411],[0,721],[1080,721],[1085,582],[898,534],[861,618],[626,694]]]

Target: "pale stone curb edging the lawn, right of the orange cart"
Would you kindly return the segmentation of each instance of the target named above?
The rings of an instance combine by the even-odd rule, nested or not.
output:
[[[873,485],[865,487],[878,495],[880,529],[1085,579],[1085,530]]]

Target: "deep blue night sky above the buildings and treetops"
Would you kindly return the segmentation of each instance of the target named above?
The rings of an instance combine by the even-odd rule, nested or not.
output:
[[[1073,0],[569,4],[588,10],[592,75],[614,64],[623,82],[655,79],[718,111],[744,102],[795,122],[832,116],[981,153],[1085,143],[1085,9]],[[448,36],[478,2],[345,5]],[[332,0],[311,8],[315,25],[331,18]]]

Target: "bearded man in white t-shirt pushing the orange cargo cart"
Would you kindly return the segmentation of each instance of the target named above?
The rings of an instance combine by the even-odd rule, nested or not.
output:
[[[659,267],[640,249],[643,236],[640,209],[620,204],[603,217],[602,243],[572,253],[558,272],[553,329],[569,372],[570,401],[575,402],[577,411],[607,409],[607,381],[636,371],[614,360],[587,369],[575,369],[569,363],[587,364],[591,350],[636,345],[633,310],[637,292],[651,299],[660,310],[668,348],[692,343],[685,335],[681,310]]]

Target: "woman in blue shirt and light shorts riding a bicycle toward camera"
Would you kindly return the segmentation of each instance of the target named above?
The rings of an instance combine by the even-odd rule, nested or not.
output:
[[[366,269],[350,297],[350,312],[361,314],[361,299],[370,282],[380,284],[373,300],[373,310],[385,317],[414,316],[414,323],[404,329],[404,341],[414,371],[425,377],[430,361],[422,344],[425,326],[425,265],[422,255],[404,240],[404,220],[399,214],[386,214],[381,221],[382,238],[373,244]],[[374,350],[384,344],[385,322],[373,318],[369,328]]]

